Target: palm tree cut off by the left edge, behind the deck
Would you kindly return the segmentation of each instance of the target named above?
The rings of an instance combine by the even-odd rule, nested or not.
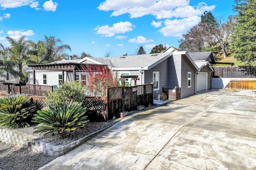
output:
[[[16,77],[19,72],[15,70],[15,62],[10,60],[9,49],[4,48],[2,44],[0,47],[0,76],[5,76],[6,80],[9,80],[10,75]]]

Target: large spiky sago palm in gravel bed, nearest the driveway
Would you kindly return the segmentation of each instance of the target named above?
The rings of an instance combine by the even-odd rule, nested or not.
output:
[[[45,132],[53,134],[55,132],[64,136],[68,131],[76,130],[77,127],[84,127],[89,120],[85,115],[86,107],[82,103],[70,101],[67,104],[49,106],[38,110],[33,117],[33,122],[39,123],[35,127],[34,133]]]

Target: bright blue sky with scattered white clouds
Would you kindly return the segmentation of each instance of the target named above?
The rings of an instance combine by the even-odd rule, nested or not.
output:
[[[93,57],[146,53],[159,44],[178,48],[180,35],[200,21],[233,15],[234,0],[0,0],[0,43],[6,36],[39,41],[54,36]]]

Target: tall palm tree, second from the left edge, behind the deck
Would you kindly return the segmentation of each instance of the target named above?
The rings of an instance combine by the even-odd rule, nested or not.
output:
[[[28,55],[28,52],[30,51],[30,42],[26,40],[25,35],[20,37],[17,41],[10,36],[7,36],[6,39],[11,46],[9,48],[10,59],[17,64],[20,73],[20,80],[22,80],[24,77],[22,67],[24,64],[31,61]]]

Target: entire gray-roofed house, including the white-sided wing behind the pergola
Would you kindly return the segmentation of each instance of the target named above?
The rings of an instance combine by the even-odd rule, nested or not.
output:
[[[194,94],[196,89],[196,72],[199,71],[196,64],[185,51],[174,54],[156,53],[106,58],[85,57],[80,60],[56,61],[50,64],[65,65],[68,63],[107,65],[112,70],[113,75],[117,73],[119,78],[125,75],[138,76],[137,85],[154,84],[154,99],[156,99],[157,91],[161,94],[162,88],[174,88],[174,86],[181,88],[181,98]],[[33,65],[30,66],[32,67]],[[32,76],[30,77],[30,84],[33,84],[31,82],[36,82],[36,84],[51,82],[51,84],[47,85],[57,85],[57,80],[60,80],[60,78],[64,79],[64,81],[74,80],[74,76],[72,77],[74,74],[70,74],[70,70],[60,72],[42,69],[34,70],[34,72],[36,81]],[[75,79],[81,80],[83,77],[88,77],[86,76],[86,72],[77,72]],[[51,81],[47,81],[47,79]],[[128,78],[125,84],[134,86],[135,82],[131,78]]]

